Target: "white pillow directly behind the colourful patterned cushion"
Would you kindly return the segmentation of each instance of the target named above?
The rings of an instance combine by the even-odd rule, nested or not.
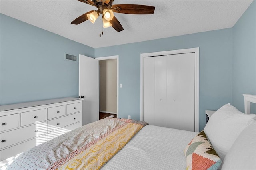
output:
[[[218,156],[224,160],[238,135],[246,128],[254,114],[244,114],[230,103],[218,109],[209,119],[204,132]]]

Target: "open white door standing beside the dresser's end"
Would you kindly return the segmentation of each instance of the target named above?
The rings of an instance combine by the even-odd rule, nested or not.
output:
[[[84,97],[82,125],[98,121],[98,60],[79,54],[79,96]]]

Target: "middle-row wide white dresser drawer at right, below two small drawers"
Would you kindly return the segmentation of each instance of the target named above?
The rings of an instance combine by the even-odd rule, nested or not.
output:
[[[58,119],[50,120],[48,121],[47,132],[51,132],[52,130],[65,127],[79,121],[80,121],[80,112],[72,115],[67,115],[65,117],[60,117]]]

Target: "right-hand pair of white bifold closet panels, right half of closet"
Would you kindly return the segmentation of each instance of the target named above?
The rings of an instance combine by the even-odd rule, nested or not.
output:
[[[194,53],[167,56],[167,127],[194,131]]]

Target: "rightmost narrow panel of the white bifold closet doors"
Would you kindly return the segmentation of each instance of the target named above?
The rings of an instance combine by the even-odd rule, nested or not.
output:
[[[195,130],[195,53],[180,58],[180,129]]]

